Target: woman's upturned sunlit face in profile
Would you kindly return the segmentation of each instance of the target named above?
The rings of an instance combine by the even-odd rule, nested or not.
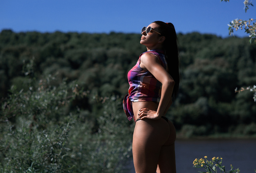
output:
[[[152,24],[148,25],[147,28],[149,26],[152,29],[154,29],[155,31],[157,31],[157,27],[158,27],[157,24],[152,23]],[[144,32],[142,32],[142,36],[141,36],[141,39],[140,39],[140,44],[143,44],[143,45],[145,45],[147,47],[154,47],[154,46],[156,46],[159,43],[159,39],[160,39],[160,35],[157,34],[156,32],[151,30],[147,34],[146,31],[144,31]]]

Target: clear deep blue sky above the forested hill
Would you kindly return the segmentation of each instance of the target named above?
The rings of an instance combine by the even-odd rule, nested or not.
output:
[[[0,0],[0,31],[140,33],[155,20],[172,22],[176,32],[228,36],[233,19],[256,18],[245,13],[244,0]],[[236,36],[248,36],[244,31]]]

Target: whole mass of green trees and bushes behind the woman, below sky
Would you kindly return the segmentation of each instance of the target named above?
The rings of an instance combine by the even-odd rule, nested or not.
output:
[[[3,30],[0,173],[125,172],[134,123],[122,98],[128,70],[146,51],[139,39]],[[197,32],[178,39],[182,85],[167,114],[178,137],[255,136],[251,92],[234,88],[256,83],[256,46]]]

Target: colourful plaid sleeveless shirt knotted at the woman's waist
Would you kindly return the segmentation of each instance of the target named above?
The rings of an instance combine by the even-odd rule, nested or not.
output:
[[[159,63],[167,69],[167,62],[164,52],[151,50],[144,53],[151,53],[157,56]],[[142,54],[144,54],[142,53]],[[142,56],[140,54],[140,57]],[[129,120],[134,118],[132,102],[153,101],[160,102],[162,83],[159,82],[147,69],[140,67],[140,57],[137,64],[128,72],[129,90],[123,100],[123,109]]]

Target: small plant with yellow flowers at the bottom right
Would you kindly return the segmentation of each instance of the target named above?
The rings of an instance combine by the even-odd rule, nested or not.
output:
[[[237,168],[235,170],[232,165],[230,165],[231,169],[226,172],[225,166],[222,166],[222,158],[213,157],[211,160],[207,160],[207,156],[204,156],[205,159],[195,159],[193,164],[194,168],[204,168],[207,172],[198,171],[200,173],[217,173],[217,168],[220,168],[221,173],[239,173],[240,170]]]

